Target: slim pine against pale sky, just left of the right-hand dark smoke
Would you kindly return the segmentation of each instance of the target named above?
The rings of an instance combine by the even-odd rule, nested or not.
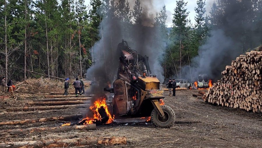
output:
[[[194,8],[194,10],[197,13],[197,16],[195,16],[195,20],[197,22],[197,38],[199,40],[199,45],[201,46],[202,39],[205,37],[205,30],[203,28],[204,22],[205,22],[205,13],[206,13],[206,0],[197,0],[197,7]]]

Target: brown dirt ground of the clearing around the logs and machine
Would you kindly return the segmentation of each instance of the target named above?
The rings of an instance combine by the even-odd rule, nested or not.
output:
[[[136,124],[109,124],[97,126],[93,131],[40,132],[26,135],[1,134],[0,142],[68,139],[81,137],[120,137],[127,138],[127,145],[86,146],[86,147],[261,147],[262,114],[240,109],[217,107],[197,100],[192,94],[198,90],[177,91],[176,97],[166,95],[165,105],[176,113],[176,124],[168,129],[160,129],[145,122]],[[31,98],[35,99],[35,98]],[[80,109],[48,111],[5,112],[5,107],[22,106],[28,100],[1,102],[0,120],[20,120],[61,115],[82,114]],[[7,105],[8,104],[8,105]],[[75,121],[77,123],[77,121]],[[0,130],[31,127],[55,127],[62,122],[44,122],[27,125],[0,126]]]

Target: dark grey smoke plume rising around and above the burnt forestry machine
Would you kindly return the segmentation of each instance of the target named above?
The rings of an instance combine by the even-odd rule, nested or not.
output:
[[[134,1],[129,0],[132,4]],[[86,74],[88,79],[95,82],[91,87],[92,93],[104,96],[104,88],[109,88],[109,84],[112,84],[118,71],[118,60],[121,56],[121,52],[117,51],[117,45],[122,39],[126,40],[128,45],[142,56],[147,55],[152,74],[157,75],[160,82],[164,81],[163,69],[158,59],[162,59],[165,44],[159,29],[150,27],[154,22],[154,15],[150,15],[153,14],[151,11],[153,7],[148,3],[152,1],[141,0],[143,25],[126,24],[110,14],[102,20],[99,33],[101,39],[92,49],[95,64],[87,70]],[[90,49],[91,52],[92,50]]]

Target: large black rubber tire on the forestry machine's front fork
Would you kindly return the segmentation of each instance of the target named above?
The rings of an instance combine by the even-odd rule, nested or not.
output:
[[[160,128],[172,127],[175,124],[175,119],[176,119],[174,110],[166,105],[163,105],[161,107],[162,110],[164,111],[165,118],[162,119],[158,114],[157,110],[153,109],[153,111],[151,112],[151,122],[153,123],[153,125]]]

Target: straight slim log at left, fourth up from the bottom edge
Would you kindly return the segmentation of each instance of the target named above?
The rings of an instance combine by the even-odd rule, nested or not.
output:
[[[87,104],[75,105],[59,105],[59,106],[45,106],[45,107],[8,107],[7,111],[34,111],[34,110],[50,110],[50,109],[68,109],[68,108],[85,108]]]

